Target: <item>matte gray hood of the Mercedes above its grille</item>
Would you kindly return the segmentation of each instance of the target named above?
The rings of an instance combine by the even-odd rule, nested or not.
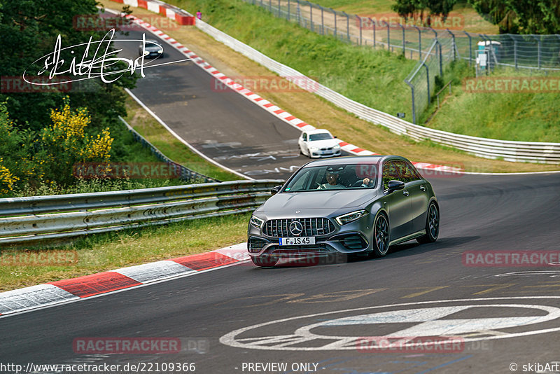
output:
[[[377,195],[375,190],[311,191],[298,193],[278,193],[269,198],[255,212],[267,217],[293,217],[295,211],[300,216],[320,214],[327,216],[340,210],[365,207]]]

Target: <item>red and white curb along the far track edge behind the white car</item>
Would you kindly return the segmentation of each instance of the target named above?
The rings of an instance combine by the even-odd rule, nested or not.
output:
[[[301,131],[314,130],[316,128],[312,125],[309,125],[309,123],[306,123],[304,120],[301,120],[300,118],[297,118],[297,117],[293,116],[292,114],[288,113],[287,111],[284,111],[279,106],[276,106],[275,104],[272,104],[272,102],[269,102],[264,97],[261,97],[260,95],[255,94],[255,92],[252,92],[251,90],[248,90],[247,88],[244,88],[243,85],[240,85],[239,83],[236,83],[233,79],[229,78],[225,74],[218,71],[218,69],[211,66],[211,64],[204,61],[204,59],[202,59],[202,57],[198,56],[195,52],[193,52],[192,50],[189,50],[187,47],[181,45],[181,43],[179,43],[179,41],[176,41],[176,39],[173,39],[171,36],[165,34],[165,32],[162,32],[162,30],[158,29],[157,27],[154,27],[154,26],[150,25],[148,22],[146,22],[144,20],[141,20],[140,18],[137,18],[134,15],[127,15],[127,18],[132,20],[132,22],[136,23],[137,25],[140,25],[141,27],[144,27],[148,31],[157,35],[160,39],[167,42],[170,46],[174,47],[176,50],[179,50],[179,52],[181,52],[184,55],[186,55],[187,57],[189,57],[195,64],[197,64],[200,68],[202,68],[208,74],[210,74],[214,78],[220,80],[223,85],[226,85],[226,86],[230,87],[233,91],[239,93],[239,95],[242,95],[246,99],[251,100],[251,102],[253,102],[254,104],[257,104],[262,109],[265,109],[266,111],[271,113],[273,116],[276,116],[276,118],[280,118],[284,122],[288,123],[289,125],[297,128],[298,130],[301,130]],[[379,154],[379,153],[374,153],[372,151],[368,151],[367,149],[360,148],[360,147],[355,146],[353,144],[347,143],[346,141],[343,141],[342,139],[337,139],[337,141],[340,145],[340,148],[343,151],[346,151],[346,152],[351,153],[353,155],[377,155],[377,154]],[[445,165],[434,165],[434,164],[429,164],[429,163],[426,163],[426,162],[412,162],[412,163],[419,169],[429,169],[430,171],[435,171],[435,172],[456,173],[456,172],[461,171],[461,169],[459,169],[458,167],[450,167],[450,166],[445,166]]]

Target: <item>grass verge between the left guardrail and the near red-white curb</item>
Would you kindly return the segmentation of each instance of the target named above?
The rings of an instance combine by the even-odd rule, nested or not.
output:
[[[125,266],[187,256],[246,241],[251,214],[236,214],[123,230],[80,238],[71,244],[2,250],[0,291],[80,277]],[[62,266],[25,265],[25,256],[36,251],[65,251],[77,263]],[[75,252],[73,252],[75,251]],[[76,257],[73,257],[76,254]],[[12,265],[14,264],[15,265]]]

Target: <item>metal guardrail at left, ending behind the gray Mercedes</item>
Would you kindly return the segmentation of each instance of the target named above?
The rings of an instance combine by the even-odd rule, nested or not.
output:
[[[281,180],[0,199],[0,245],[250,212]]]

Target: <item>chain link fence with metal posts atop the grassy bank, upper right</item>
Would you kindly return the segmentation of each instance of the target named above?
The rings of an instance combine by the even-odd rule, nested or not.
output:
[[[335,11],[304,0],[244,0],[279,18],[296,22],[321,35],[334,36],[356,46],[391,50],[419,60],[405,79],[412,93],[412,121],[430,104],[435,77],[443,77],[451,61],[474,65],[479,53],[488,52],[486,72],[496,67],[560,71],[560,35],[473,34],[455,25],[433,29],[402,25],[384,17],[363,17]]]

